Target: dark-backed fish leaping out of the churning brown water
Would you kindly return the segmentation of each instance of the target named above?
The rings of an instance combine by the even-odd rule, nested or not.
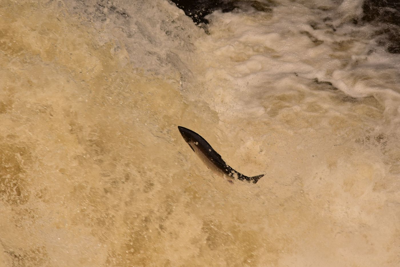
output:
[[[220,154],[218,154],[212,148],[212,146],[200,136],[200,134],[197,134],[196,132],[182,126],[178,126],[178,129],[185,142],[188,143],[194,153],[213,172],[220,175],[222,174],[223,176],[228,176],[228,178],[236,178],[241,181],[253,182],[254,184],[256,184],[258,180],[265,175],[260,174],[257,176],[249,177],[241,174],[240,172],[237,172],[225,163]],[[230,180],[230,182],[232,182],[232,180]]]

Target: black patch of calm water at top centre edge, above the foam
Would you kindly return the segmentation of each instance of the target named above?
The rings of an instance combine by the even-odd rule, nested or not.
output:
[[[276,6],[276,4],[270,0],[172,0],[172,2],[174,2],[178,8],[182,9],[186,16],[192,18],[193,22],[196,24],[208,24],[208,20],[204,17],[215,10],[221,10],[224,13],[233,10],[271,12],[272,7]]]

